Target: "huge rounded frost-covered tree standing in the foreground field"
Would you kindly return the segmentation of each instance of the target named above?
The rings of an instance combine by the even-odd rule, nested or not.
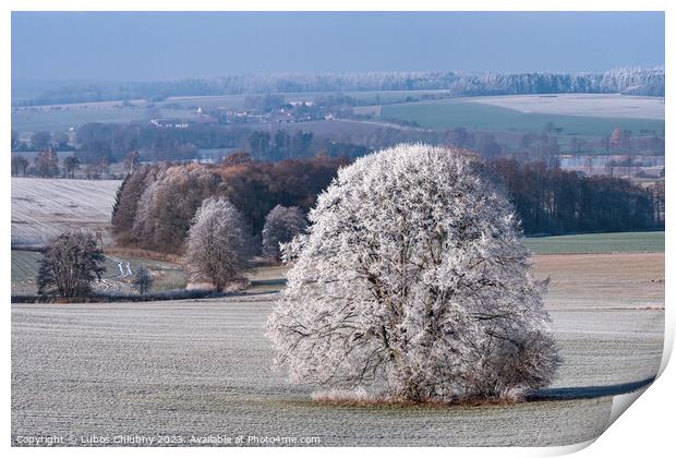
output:
[[[514,208],[467,152],[399,145],[340,170],[285,248],[267,323],[298,383],[387,399],[518,398],[560,364]]]

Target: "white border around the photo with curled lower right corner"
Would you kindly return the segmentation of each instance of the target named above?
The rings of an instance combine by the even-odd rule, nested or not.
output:
[[[676,134],[675,122],[672,114],[674,113],[673,104],[671,103],[673,91],[676,88],[674,85],[674,69],[673,59],[669,56],[674,55],[674,44],[676,43],[676,35],[674,33],[674,17],[676,10],[673,4],[676,2],[661,1],[661,0],[643,0],[643,1],[601,1],[601,0],[550,0],[546,2],[538,1],[496,1],[496,0],[476,0],[476,1],[431,1],[431,0],[418,0],[415,2],[402,2],[397,0],[389,1],[370,1],[363,0],[328,0],[322,1],[309,1],[309,0],[285,0],[281,1],[265,1],[265,0],[230,0],[226,2],[210,1],[210,0],[191,0],[190,2],[179,1],[150,1],[150,0],[117,0],[117,1],[93,1],[83,0],[5,0],[2,2],[2,9],[4,14],[2,15],[2,22],[0,26],[2,36],[2,47],[0,48],[0,62],[4,62],[2,68],[2,106],[1,111],[3,129],[0,135],[1,144],[7,145],[9,143],[11,117],[11,92],[10,92],[10,37],[11,37],[11,11],[378,11],[378,10],[395,10],[395,11],[666,11],[666,48],[665,48],[665,67],[666,67],[666,92],[667,103],[666,105],[666,171],[669,178],[667,179],[667,226],[671,227],[674,219],[674,193],[669,185],[672,180],[671,172],[671,150],[672,145],[676,143],[673,141],[672,135]],[[10,278],[10,196],[11,196],[11,182],[7,179],[9,177],[10,155],[4,157],[4,166],[7,167],[0,174],[4,177],[4,180],[0,180],[2,186],[3,198],[0,203],[2,205],[2,215],[5,218],[5,222],[2,226],[2,232],[4,234],[5,257],[4,262],[0,265],[0,272],[2,273],[3,280],[1,282],[2,297],[5,299],[5,308],[3,313],[4,318],[4,335],[2,338],[3,351],[1,353],[2,366],[5,372],[5,384],[2,386],[2,407],[4,415],[2,417],[2,431],[5,432],[5,442],[1,445],[3,448],[9,448],[10,454],[16,456],[44,456],[47,454],[53,454],[57,456],[63,455],[120,455],[129,454],[132,456],[162,456],[162,455],[183,455],[186,449],[64,449],[64,448],[11,448],[9,446],[9,433],[10,427],[10,400],[11,400],[11,310],[9,305],[10,297],[10,282],[7,280]],[[672,275],[672,262],[671,256],[676,254],[676,250],[672,249],[672,244],[668,239],[666,241],[666,303],[669,303],[674,298],[673,288],[673,275]],[[666,311],[666,335],[665,335],[665,355],[671,354],[671,350],[674,341],[674,313],[671,308],[667,306]],[[663,361],[664,370],[667,358]],[[613,424],[608,431],[606,431],[591,447],[587,447],[589,444],[579,444],[567,447],[543,447],[543,448],[426,448],[425,454],[432,454],[437,456],[552,456],[568,454],[580,448],[584,448],[580,451],[580,456],[595,456],[596,454],[603,454],[613,457],[631,456],[635,457],[639,454],[653,453],[656,456],[666,455],[660,453],[661,450],[673,450],[673,424],[672,419],[674,417],[674,393],[673,386],[676,386],[675,375],[673,367],[668,367],[660,379],[650,387],[641,398],[631,406],[628,413],[625,413]],[[587,447],[587,448],[586,448]],[[222,456],[224,454],[243,454],[243,455],[262,455],[266,451],[274,451],[275,454],[288,455],[288,456],[315,456],[317,449],[311,448],[293,448],[293,449],[207,449],[207,448],[192,448],[189,453],[216,455]],[[318,451],[322,455],[339,456],[345,453],[339,448],[323,448]],[[364,454],[364,455],[410,455],[417,453],[410,448],[354,448],[350,449],[350,454]]]

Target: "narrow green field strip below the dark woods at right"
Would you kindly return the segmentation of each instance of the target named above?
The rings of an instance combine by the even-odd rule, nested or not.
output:
[[[564,253],[664,253],[664,232],[586,233],[527,238],[536,254]]]

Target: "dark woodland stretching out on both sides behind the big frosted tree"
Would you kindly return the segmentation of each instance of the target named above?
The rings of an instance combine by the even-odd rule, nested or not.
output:
[[[307,212],[336,176],[343,158],[267,162],[248,154],[221,166],[147,165],[129,174],[112,212],[112,230],[123,245],[180,253],[195,212],[207,197],[226,197],[258,240],[277,205]],[[583,177],[544,162],[492,162],[521,218],[526,234],[632,231],[662,228],[664,194],[607,177]],[[660,206],[661,205],[661,206]]]

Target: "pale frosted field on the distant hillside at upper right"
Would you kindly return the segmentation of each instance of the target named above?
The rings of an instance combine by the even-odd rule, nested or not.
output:
[[[547,94],[472,97],[468,101],[495,105],[524,113],[664,119],[664,98],[661,97],[618,94]]]

